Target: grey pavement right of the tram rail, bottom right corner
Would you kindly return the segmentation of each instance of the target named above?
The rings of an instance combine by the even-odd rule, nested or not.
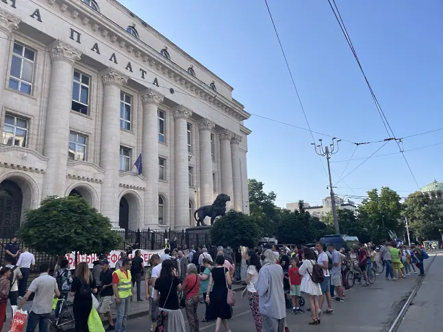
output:
[[[430,255],[431,256],[431,255]],[[428,260],[432,259],[432,256]],[[443,253],[438,253],[425,275],[412,305],[407,309],[398,331],[441,331],[443,316]]]

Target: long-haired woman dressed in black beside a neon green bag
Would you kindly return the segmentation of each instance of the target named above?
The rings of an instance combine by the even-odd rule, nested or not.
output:
[[[75,332],[88,332],[88,317],[92,309],[92,293],[97,293],[97,283],[92,277],[88,263],[82,261],[75,268],[75,277],[71,285],[74,296],[73,312]]]

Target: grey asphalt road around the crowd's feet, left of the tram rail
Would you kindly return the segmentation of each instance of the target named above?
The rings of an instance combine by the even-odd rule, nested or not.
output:
[[[431,261],[427,259],[426,264]],[[385,281],[384,273],[370,287],[355,285],[351,292],[346,292],[344,303],[333,303],[332,315],[322,314],[321,325],[309,326],[311,320],[309,311],[305,314],[293,315],[288,310],[288,327],[294,331],[328,331],[328,332],[355,332],[355,331],[387,331],[390,323],[400,311],[403,302],[409,296],[418,277],[412,274],[407,279],[398,281]],[[307,297],[305,297],[307,302]],[[308,303],[302,309],[307,309]],[[323,309],[326,309],[326,304]],[[199,318],[203,318],[204,305],[199,305]],[[183,317],[186,313],[183,309]],[[188,324],[186,324],[188,327]],[[128,320],[127,331],[149,331],[151,320],[148,316]],[[247,298],[237,296],[236,306],[233,308],[233,318],[229,320],[232,332],[255,331],[255,326],[249,309]],[[327,329],[327,330],[326,330]],[[187,330],[189,331],[189,329]],[[215,331],[214,323],[201,323],[200,331]],[[223,327],[220,331],[224,331]],[[266,332],[266,331],[264,331]]]

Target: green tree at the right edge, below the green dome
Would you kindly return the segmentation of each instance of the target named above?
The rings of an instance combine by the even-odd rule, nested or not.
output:
[[[443,200],[431,199],[422,192],[410,194],[405,203],[404,216],[409,227],[421,240],[443,239]]]

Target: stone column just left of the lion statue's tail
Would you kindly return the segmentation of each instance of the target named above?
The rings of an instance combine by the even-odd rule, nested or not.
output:
[[[192,111],[183,105],[173,108],[174,114],[174,228],[189,227],[188,130],[186,123]]]

